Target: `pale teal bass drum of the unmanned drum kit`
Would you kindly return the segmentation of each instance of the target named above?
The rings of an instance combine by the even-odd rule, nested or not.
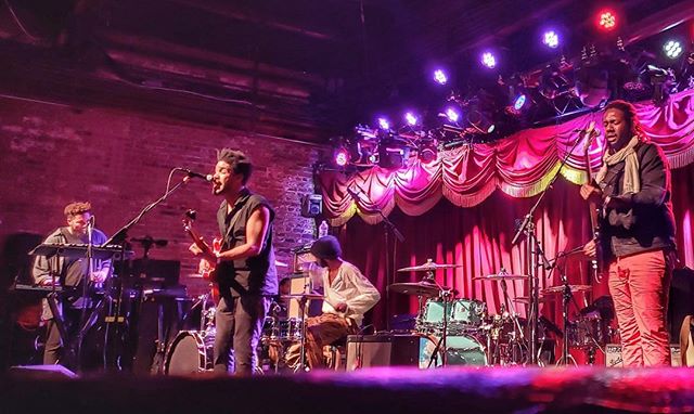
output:
[[[436,352],[434,362],[432,354],[436,349],[436,345],[440,337],[424,336],[420,339],[420,368],[438,367],[442,365],[442,352]],[[442,345],[441,345],[442,347]],[[487,352],[483,346],[483,341],[473,335],[455,335],[446,337],[446,359],[447,365],[487,365]],[[429,364],[429,362],[432,362]]]

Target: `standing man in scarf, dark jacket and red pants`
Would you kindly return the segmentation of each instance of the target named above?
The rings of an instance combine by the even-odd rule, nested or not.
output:
[[[593,184],[580,189],[583,199],[602,204],[600,235],[583,253],[594,258],[600,246],[597,259],[608,264],[625,366],[669,365],[666,318],[674,216],[668,160],[648,142],[630,103],[609,103],[603,127],[603,165]]]

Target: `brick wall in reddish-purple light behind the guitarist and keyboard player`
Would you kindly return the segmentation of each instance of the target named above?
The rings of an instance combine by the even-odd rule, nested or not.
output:
[[[64,223],[63,207],[90,200],[97,227],[107,235],[132,219],[166,189],[172,167],[211,171],[215,150],[237,147],[252,157],[248,186],[274,206],[278,259],[291,261],[291,248],[312,240],[314,222],[299,216],[299,196],[313,191],[311,166],[320,148],[243,131],[184,124],[104,108],[74,108],[0,98],[0,237],[17,232],[48,234]],[[175,176],[174,182],[182,176]],[[218,233],[220,198],[210,185],[192,181],[145,215],[130,237],[168,240],[153,248],[153,259],[180,260],[181,282],[197,294],[200,282],[187,280],[196,269],[182,214],[198,211],[196,228]],[[137,256],[142,249],[136,245]],[[280,269],[281,271],[286,269]]]

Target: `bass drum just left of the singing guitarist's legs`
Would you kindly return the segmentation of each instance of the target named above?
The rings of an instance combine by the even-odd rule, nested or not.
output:
[[[166,352],[167,375],[198,374],[213,368],[215,335],[197,331],[179,332]]]

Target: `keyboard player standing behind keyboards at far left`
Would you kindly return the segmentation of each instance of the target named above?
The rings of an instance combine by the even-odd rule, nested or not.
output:
[[[43,242],[43,244],[81,244],[89,243],[91,235],[91,244],[94,246],[102,245],[106,242],[106,235],[98,229],[93,229],[93,216],[91,215],[90,203],[70,203],[64,209],[67,225],[61,227],[53,231]],[[59,286],[78,287],[76,292],[81,293],[81,282],[85,275],[91,274],[90,280],[94,283],[103,283],[111,275],[111,260],[92,260],[93,268],[89,269],[88,260],[85,257],[76,255],[63,256],[54,255],[52,257],[36,256],[31,275],[34,283],[39,286]],[[88,306],[88,301],[80,298],[80,295],[62,296],[59,310],[62,312],[62,319],[65,323],[68,340],[73,340],[79,329],[82,305]],[[44,364],[56,364],[63,362],[64,348],[60,332],[55,324],[53,314],[43,303],[41,319],[47,322],[46,349],[43,351]]]

